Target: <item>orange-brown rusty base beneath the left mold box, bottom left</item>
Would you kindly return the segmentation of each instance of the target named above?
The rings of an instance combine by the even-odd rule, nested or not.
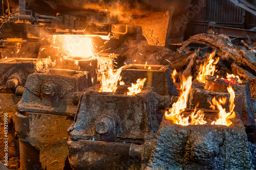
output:
[[[68,157],[67,129],[73,123],[73,118],[50,114],[15,113],[15,120],[15,130],[22,143],[21,170],[27,170],[28,167],[62,170]],[[30,150],[33,154],[28,153]],[[28,162],[28,159],[31,162]]]

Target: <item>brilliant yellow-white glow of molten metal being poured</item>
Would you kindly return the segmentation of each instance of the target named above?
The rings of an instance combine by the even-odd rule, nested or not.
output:
[[[68,57],[93,57],[92,39],[84,35],[53,35],[54,44],[67,52]]]

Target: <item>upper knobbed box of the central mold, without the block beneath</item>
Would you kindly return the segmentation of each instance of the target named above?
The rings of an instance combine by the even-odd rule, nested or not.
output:
[[[68,130],[72,140],[143,143],[156,136],[163,116],[160,109],[169,106],[169,96],[159,95],[152,87],[136,95],[124,94],[129,86],[118,86],[116,93],[99,92],[99,87],[82,93],[75,122]]]

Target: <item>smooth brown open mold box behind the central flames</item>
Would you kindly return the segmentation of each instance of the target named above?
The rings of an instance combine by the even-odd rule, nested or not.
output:
[[[148,67],[151,67],[151,69],[148,69]],[[170,75],[172,72],[170,66],[129,64],[121,68],[122,81],[125,85],[136,83],[139,78],[146,78],[145,86],[154,87],[160,95],[178,95]]]

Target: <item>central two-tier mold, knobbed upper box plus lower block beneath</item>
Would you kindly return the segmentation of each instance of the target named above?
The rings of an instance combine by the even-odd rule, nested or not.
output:
[[[118,86],[116,93],[98,92],[99,87],[74,96],[80,102],[68,129],[71,167],[141,169],[151,151],[152,142],[147,141],[156,137],[163,116],[160,109],[168,107],[170,97],[151,87],[136,95],[125,94],[129,86]]]

